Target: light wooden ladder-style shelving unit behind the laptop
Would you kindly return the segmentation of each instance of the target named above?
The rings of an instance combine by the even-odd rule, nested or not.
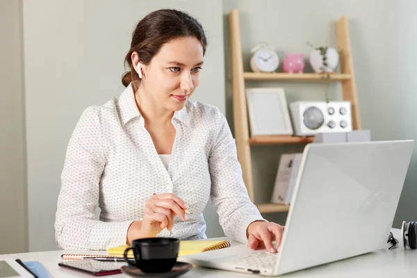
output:
[[[253,145],[306,144],[312,142],[313,137],[254,136],[253,138],[250,138],[245,81],[293,81],[310,83],[341,82],[343,99],[350,101],[352,104],[353,129],[361,129],[359,106],[357,102],[357,89],[354,79],[352,51],[350,48],[350,35],[346,17],[341,17],[341,19],[338,19],[336,22],[336,34],[338,47],[341,49],[341,55],[339,57],[341,68],[340,74],[244,72],[238,10],[234,9],[229,13],[231,88],[236,147],[238,149],[238,160],[242,166],[243,180],[245,181],[247,192],[252,202],[255,201],[255,188],[252,178],[250,147]],[[283,212],[288,211],[290,208],[290,206],[280,204],[256,204],[256,206],[261,213]]]

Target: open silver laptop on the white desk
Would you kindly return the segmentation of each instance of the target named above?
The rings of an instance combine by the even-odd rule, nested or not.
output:
[[[306,146],[279,252],[246,245],[181,257],[276,276],[386,247],[413,140]]]

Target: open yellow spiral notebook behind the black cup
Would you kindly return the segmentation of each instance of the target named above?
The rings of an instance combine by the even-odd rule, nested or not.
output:
[[[109,255],[123,256],[124,250],[127,247],[129,246],[120,245],[116,247],[110,247],[108,248],[107,253]],[[179,243],[178,256],[185,256],[210,250],[218,250],[227,247],[230,247],[230,243],[227,240],[181,240]],[[130,251],[128,254],[133,256],[132,251]]]

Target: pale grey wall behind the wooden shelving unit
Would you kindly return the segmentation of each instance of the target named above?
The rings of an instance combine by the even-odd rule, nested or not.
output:
[[[311,48],[306,45],[306,41],[337,47],[334,22],[339,17],[348,17],[363,129],[371,130],[373,140],[417,140],[417,1],[224,1],[226,110],[231,124],[229,31],[226,16],[233,8],[239,10],[243,61],[247,71],[250,70],[250,49],[261,41],[276,47],[281,59],[286,51],[304,53],[308,57]],[[311,71],[308,63],[305,70]],[[331,99],[341,98],[340,84],[247,83],[247,86],[282,86],[288,103],[297,99],[324,99],[326,90],[329,90]],[[301,146],[252,147],[256,202],[268,202],[270,198],[279,154],[300,151]],[[417,155],[414,152],[395,215],[395,227],[399,227],[402,220],[417,220],[416,163]],[[286,213],[264,216],[280,223],[286,219]]]

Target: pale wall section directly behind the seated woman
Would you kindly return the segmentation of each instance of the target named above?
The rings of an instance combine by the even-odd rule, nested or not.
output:
[[[183,9],[201,20],[210,44],[193,99],[224,112],[221,0],[23,0],[29,250],[56,249],[56,199],[67,142],[83,109],[120,95],[131,33],[158,8]],[[221,235],[212,208],[206,218],[207,234]]]

